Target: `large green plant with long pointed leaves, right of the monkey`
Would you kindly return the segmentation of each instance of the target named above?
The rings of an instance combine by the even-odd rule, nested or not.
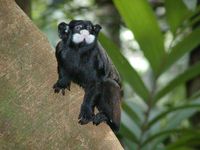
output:
[[[166,18],[173,40],[170,47],[164,48],[164,36],[146,0],[114,0],[114,3],[123,21],[133,32],[153,72],[152,86],[147,86],[119,48],[101,35],[100,41],[123,79],[140,97],[137,98],[139,100],[131,98],[123,102],[119,137],[127,149],[190,149],[199,145],[200,131],[192,129],[187,121],[200,108],[198,94],[170,107],[160,102],[164,96],[170,98],[166,95],[172,93],[177,86],[199,75],[200,63],[174,76],[164,87],[158,86],[159,79],[167,74],[169,68],[200,44],[200,28],[190,30],[193,25],[191,17],[199,12],[199,8],[188,9],[182,0],[165,1]]]

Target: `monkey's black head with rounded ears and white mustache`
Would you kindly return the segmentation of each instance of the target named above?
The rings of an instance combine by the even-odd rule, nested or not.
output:
[[[59,37],[69,39],[74,44],[94,43],[100,30],[100,25],[93,25],[87,20],[72,20],[69,24],[62,22],[58,25]]]

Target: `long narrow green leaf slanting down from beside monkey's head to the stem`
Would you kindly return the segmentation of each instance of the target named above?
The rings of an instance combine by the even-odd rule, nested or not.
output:
[[[131,67],[126,58],[124,58],[124,56],[121,54],[119,48],[117,48],[115,44],[103,34],[100,35],[99,39],[103,47],[106,49],[108,55],[111,57],[113,63],[117,67],[119,73],[122,75],[122,78],[132,86],[132,88],[141,98],[147,100],[149,92],[144,85],[144,82],[135,69]]]

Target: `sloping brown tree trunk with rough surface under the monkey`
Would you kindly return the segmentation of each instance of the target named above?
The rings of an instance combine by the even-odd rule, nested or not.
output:
[[[78,86],[53,93],[52,47],[14,0],[0,1],[0,18],[0,149],[123,149],[107,125],[78,124]]]

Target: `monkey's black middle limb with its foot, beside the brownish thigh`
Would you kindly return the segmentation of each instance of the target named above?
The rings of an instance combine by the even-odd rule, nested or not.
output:
[[[85,90],[85,96],[81,105],[81,111],[78,118],[80,124],[87,124],[88,122],[93,120],[94,105],[97,96],[98,91],[96,90],[95,86],[90,86],[90,88]]]

